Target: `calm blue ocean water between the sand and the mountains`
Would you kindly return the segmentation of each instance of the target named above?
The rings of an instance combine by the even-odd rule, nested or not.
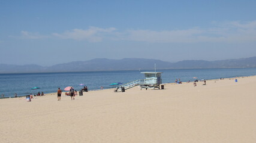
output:
[[[147,70],[150,71],[150,70]],[[152,71],[152,70],[151,70]],[[188,80],[194,81],[192,77],[200,79],[219,79],[236,76],[254,76],[256,68],[248,69],[182,69],[182,70],[157,70],[162,73],[162,83],[171,83],[175,79],[182,82]],[[58,88],[64,89],[67,86],[73,86],[79,91],[83,83],[88,86],[89,90],[99,90],[101,86],[104,89],[113,88],[109,86],[111,83],[121,82],[127,83],[137,79],[144,79],[143,70],[133,71],[88,71],[73,73],[20,73],[20,74],[0,74],[0,95],[5,97],[14,97],[17,93],[18,97],[37,92],[52,93]],[[40,89],[32,90],[33,87]],[[0,97],[1,98],[1,97]]]

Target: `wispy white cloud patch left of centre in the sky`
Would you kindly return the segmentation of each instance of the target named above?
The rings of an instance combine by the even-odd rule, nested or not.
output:
[[[90,27],[88,30],[83,29],[73,29],[71,31],[64,32],[62,34],[53,33],[53,36],[56,36],[61,39],[74,39],[74,40],[86,40],[89,42],[101,42],[104,35],[112,33],[115,31],[115,28],[101,29],[98,27]]]

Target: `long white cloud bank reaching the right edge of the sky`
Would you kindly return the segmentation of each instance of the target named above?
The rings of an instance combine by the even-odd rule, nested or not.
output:
[[[256,42],[256,21],[231,21],[208,29],[128,30],[125,35],[122,39],[142,42]]]

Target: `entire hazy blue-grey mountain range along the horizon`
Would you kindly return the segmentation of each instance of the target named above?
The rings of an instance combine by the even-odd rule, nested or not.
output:
[[[95,58],[89,61],[73,61],[70,63],[56,64],[50,67],[29,64],[17,66],[0,64],[0,73],[44,73],[44,72],[70,72],[70,71],[111,71],[111,70],[152,70],[156,64],[157,69],[211,69],[211,68],[245,68],[256,67],[256,57],[240,58],[233,60],[204,61],[185,60],[176,63],[167,61],[124,58],[111,60],[107,58]]]

